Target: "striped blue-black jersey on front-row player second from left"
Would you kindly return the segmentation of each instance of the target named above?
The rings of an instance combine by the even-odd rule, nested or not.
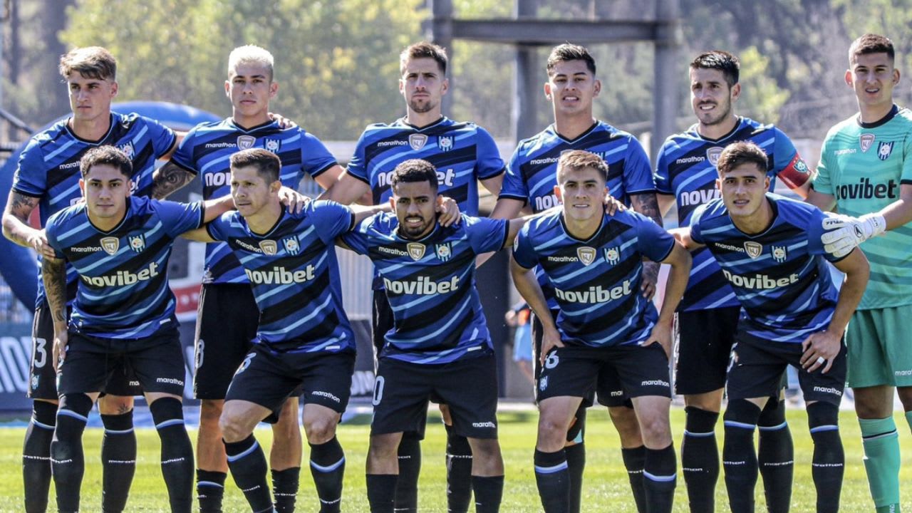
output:
[[[355,351],[342,309],[335,240],[354,225],[347,206],[315,201],[284,211],[265,234],[228,212],[206,226],[244,266],[254,288],[260,325],[256,343],[274,352]]]

